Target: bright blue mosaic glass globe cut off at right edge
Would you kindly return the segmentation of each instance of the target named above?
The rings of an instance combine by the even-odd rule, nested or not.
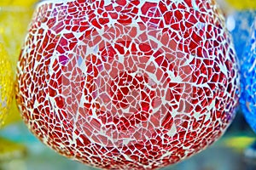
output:
[[[241,59],[241,107],[247,122],[256,132],[256,19],[254,20],[251,38]]]

